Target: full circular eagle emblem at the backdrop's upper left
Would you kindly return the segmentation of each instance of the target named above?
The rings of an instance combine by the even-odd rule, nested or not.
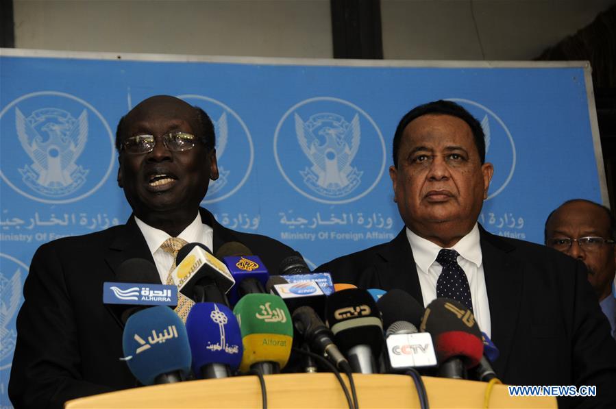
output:
[[[34,92],[0,113],[1,177],[21,195],[70,203],[95,192],[114,163],[114,137],[86,101],[62,92]]]

